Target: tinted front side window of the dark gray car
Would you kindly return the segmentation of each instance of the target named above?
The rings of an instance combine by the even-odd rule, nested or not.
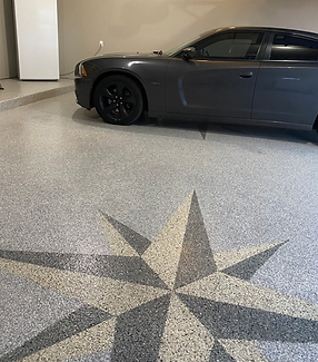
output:
[[[264,33],[228,32],[212,37],[209,42],[197,47],[198,57],[203,59],[255,59]]]

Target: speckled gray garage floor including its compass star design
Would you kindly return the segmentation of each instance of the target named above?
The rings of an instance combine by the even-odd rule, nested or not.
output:
[[[315,133],[0,117],[1,362],[317,362]]]

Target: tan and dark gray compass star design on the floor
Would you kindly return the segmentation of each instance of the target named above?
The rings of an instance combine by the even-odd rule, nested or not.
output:
[[[249,282],[285,242],[212,253],[195,192],[152,243],[100,217],[113,255],[0,251],[1,270],[82,302],[0,362],[264,362],[257,341],[318,343],[318,305]]]

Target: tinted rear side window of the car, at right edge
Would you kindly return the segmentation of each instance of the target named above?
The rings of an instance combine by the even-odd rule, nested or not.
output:
[[[317,58],[318,41],[279,33],[274,38],[271,60],[317,60]]]

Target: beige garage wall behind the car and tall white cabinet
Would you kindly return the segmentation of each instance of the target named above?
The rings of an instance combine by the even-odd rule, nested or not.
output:
[[[10,8],[11,0],[0,0],[0,78],[16,75]],[[225,26],[318,32],[317,13],[317,0],[58,0],[60,69],[72,71],[99,40],[102,52],[151,51]]]

